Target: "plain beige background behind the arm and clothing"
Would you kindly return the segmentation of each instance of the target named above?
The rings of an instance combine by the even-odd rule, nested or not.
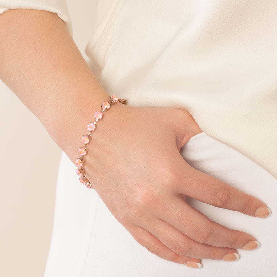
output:
[[[87,59],[97,1],[67,0],[67,5],[73,39]],[[62,150],[1,80],[0,92],[0,276],[39,277],[50,247]]]

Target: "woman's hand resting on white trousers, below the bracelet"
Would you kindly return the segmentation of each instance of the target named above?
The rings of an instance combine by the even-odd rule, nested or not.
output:
[[[250,216],[266,207],[185,162],[180,148],[202,132],[186,110],[116,104],[101,120],[93,145],[88,144],[86,176],[137,242],[163,259],[186,263],[222,259],[256,240],[211,221],[186,202],[189,196]],[[224,258],[235,259],[233,254]]]

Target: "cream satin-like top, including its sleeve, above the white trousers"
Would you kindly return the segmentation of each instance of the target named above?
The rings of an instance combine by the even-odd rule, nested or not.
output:
[[[56,12],[72,35],[65,0],[0,6]],[[128,105],[186,109],[205,133],[277,178],[276,8],[259,0],[99,0],[87,62]]]

